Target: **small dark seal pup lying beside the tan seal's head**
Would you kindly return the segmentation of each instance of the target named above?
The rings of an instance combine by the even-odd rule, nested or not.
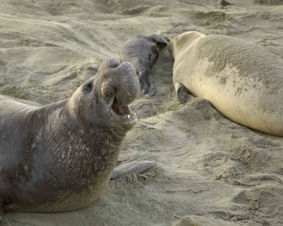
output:
[[[134,64],[139,83],[141,85],[141,93],[154,95],[155,87],[149,83],[148,73],[158,58],[158,54],[167,46],[170,40],[162,35],[137,35],[127,40],[122,49],[121,61],[129,61]]]

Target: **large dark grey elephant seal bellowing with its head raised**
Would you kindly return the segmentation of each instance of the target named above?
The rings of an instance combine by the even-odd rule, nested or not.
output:
[[[33,107],[0,96],[0,220],[4,210],[57,212],[95,201],[137,121],[127,107],[137,93],[134,66],[109,59],[68,100]]]

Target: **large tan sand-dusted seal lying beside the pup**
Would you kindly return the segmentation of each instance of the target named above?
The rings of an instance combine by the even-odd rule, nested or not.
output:
[[[168,44],[180,102],[187,91],[227,118],[283,136],[283,59],[226,35],[185,32]]]

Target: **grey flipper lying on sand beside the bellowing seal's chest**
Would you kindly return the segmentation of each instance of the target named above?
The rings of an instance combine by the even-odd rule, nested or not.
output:
[[[141,160],[140,158],[117,162],[112,170],[111,179],[117,179],[128,174],[139,174],[146,169],[154,167],[156,163],[154,161]]]

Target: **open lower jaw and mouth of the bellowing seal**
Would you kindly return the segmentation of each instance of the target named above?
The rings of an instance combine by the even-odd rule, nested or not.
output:
[[[112,117],[121,124],[129,127],[129,129],[137,122],[136,113],[133,113],[128,106],[121,106],[119,102],[117,102],[116,98],[112,102],[110,112]]]

